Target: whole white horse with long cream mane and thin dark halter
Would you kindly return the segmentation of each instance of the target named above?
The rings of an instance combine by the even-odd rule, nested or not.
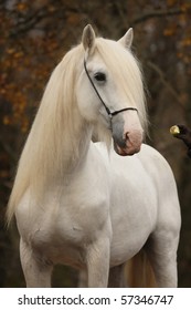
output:
[[[50,287],[56,264],[86,270],[88,287],[117,287],[141,248],[157,286],[177,286],[177,188],[165,158],[141,145],[147,117],[131,41],[131,29],[115,42],[87,25],[47,83],[8,207],[28,287]]]

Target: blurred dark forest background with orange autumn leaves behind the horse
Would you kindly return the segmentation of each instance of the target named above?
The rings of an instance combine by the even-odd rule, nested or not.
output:
[[[17,229],[4,228],[6,206],[47,79],[64,53],[81,41],[87,23],[109,39],[134,28],[132,50],[148,87],[147,142],[170,163],[180,196],[179,287],[191,287],[191,159],[183,143],[169,134],[174,124],[191,127],[190,0],[0,1],[0,287],[25,286]],[[75,271],[56,268],[55,287],[76,283]]]

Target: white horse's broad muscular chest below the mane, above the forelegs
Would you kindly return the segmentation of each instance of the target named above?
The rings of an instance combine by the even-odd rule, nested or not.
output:
[[[108,219],[108,197],[91,189],[88,196],[84,195],[83,186],[75,187],[75,192],[64,190],[64,195],[59,192],[51,193],[44,206],[30,206],[32,213],[25,197],[17,211],[19,231],[50,261],[79,267],[84,264],[86,247]]]

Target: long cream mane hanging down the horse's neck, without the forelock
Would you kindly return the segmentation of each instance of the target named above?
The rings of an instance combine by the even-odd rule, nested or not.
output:
[[[72,134],[76,66],[83,59],[82,53],[81,45],[71,50],[54,69],[45,87],[19,161],[8,206],[8,223],[29,186],[33,187],[34,193],[41,193],[46,179],[54,178],[63,172],[63,158],[67,156],[64,145],[68,140],[71,144],[73,142],[71,136],[64,134],[64,128],[70,128],[67,132]],[[74,153],[73,156],[75,156]]]

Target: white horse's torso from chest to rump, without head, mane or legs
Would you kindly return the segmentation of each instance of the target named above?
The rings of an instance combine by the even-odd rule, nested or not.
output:
[[[108,154],[103,144],[92,147],[100,153],[99,161],[95,149],[93,157],[88,151],[83,172],[67,179],[65,186],[54,185],[42,206],[32,204],[29,193],[23,197],[17,209],[23,251],[33,249],[34,259],[49,268],[64,264],[85,269],[88,249],[102,240],[104,249],[109,242],[109,267],[115,267],[134,257],[155,236],[156,245],[157,237],[162,240],[160,256],[168,258],[169,248],[177,248],[180,214],[173,177],[163,157],[147,145],[128,158],[112,151]],[[160,169],[153,170],[152,161]],[[104,265],[105,251],[102,247],[95,251]],[[176,256],[173,259],[176,264]]]

